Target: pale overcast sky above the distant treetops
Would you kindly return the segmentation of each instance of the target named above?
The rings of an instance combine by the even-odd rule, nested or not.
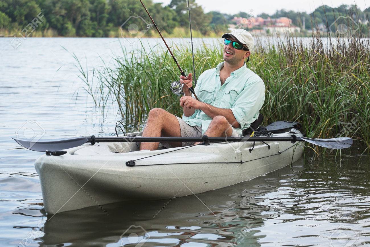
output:
[[[273,14],[276,10],[286,9],[295,11],[306,11],[310,13],[322,4],[338,7],[341,4],[357,4],[361,10],[370,7],[369,0],[195,0],[206,12],[220,11],[221,13],[236,14],[239,11],[249,12],[253,10],[253,15],[260,13]],[[367,1],[367,4],[366,4]],[[157,3],[169,4],[171,0],[154,0]]]

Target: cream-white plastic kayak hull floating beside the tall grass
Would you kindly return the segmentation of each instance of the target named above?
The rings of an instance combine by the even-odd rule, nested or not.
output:
[[[35,168],[40,176],[45,211],[55,214],[119,201],[199,194],[251,180],[302,156],[303,143],[267,144],[256,142],[250,152],[253,146],[250,142],[158,151],[135,151],[135,143],[101,143],[67,149],[62,156],[43,155],[37,159]],[[120,152],[122,149],[124,152]],[[119,153],[115,153],[117,150]],[[172,150],[175,151],[169,152]],[[148,157],[154,154],[158,155]],[[135,166],[127,166],[129,160],[137,160]]]

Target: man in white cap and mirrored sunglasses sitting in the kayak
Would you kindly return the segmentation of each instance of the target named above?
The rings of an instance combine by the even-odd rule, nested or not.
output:
[[[189,91],[192,74],[187,78],[180,76],[180,82],[185,84],[185,96],[180,99],[184,109],[182,119],[154,108],[149,112],[142,136],[241,136],[243,129],[258,118],[265,101],[265,85],[245,64],[254,45],[252,35],[243,29],[233,29],[222,37],[224,62],[199,76],[194,89],[199,101]],[[162,143],[165,147],[194,144]],[[158,146],[158,142],[143,142],[140,150],[156,150]]]

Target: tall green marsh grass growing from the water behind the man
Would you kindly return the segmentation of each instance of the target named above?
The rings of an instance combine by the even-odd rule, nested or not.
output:
[[[369,39],[329,42],[324,45],[314,37],[307,45],[286,38],[253,52],[247,66],[266,85],[264,124],[299,121],[308,137],[350,136],[366,149],[370,145]],[[189,47],[174,47],[174,55],[185,71],[192,71]],[[168,52],[155,47],[138,54],[122,49],[115,60],[117,67],[94,70],[91,77],[80,67],[85,90],[102,111],[108,103],[117,104],[131,129],[141,129],[155,107],[181,116],[178,96],[169,90],[169,83],[178,80],[178,69]],[[221,61],[221,45],[195,50],[197,75]]]

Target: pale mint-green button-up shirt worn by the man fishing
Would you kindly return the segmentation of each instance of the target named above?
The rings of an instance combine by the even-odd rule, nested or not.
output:
[[[240,124],[240,128],[235,130],[241,136],[242,130],[249,128],[259,116],[259,110],[265,101],[265,84],[244,64],[231,72],[221,86],[220,70],[223,63],[203,72],[198,77],[194,90],[200,101],[218,108],[231,109]],[[212,118],[201,110],[195,110],[189,117],[182,115],[182,119],[188,125],[202,127],[202,134],[212,121]]]

